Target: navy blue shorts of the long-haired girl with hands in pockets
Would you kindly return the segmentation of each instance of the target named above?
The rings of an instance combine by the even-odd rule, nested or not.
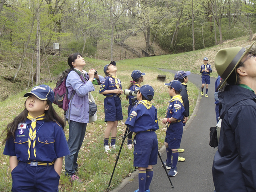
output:
[[[51,166],[30,166],[19,162],[12,170],[13,192],[58,192],[60,176]]]

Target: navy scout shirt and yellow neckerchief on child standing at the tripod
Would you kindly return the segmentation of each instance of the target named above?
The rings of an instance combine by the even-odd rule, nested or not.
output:
[[[125,121],[130,131],[137,133],[141,131],[159,129],[157,119],[157,108],[150,101],[142,100],[131,109],[129,117]]]

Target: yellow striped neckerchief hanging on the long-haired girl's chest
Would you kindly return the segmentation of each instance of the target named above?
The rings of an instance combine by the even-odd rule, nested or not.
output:
[[[28,116],[27,118],[29,120],[31,120],[31,125],[30,125],[30,128],[29,128],[29,147],[28,147],[28,154],[29,154],[29,158],[30,158],[30,147],[31,147],[31,142],[33,141],[33,149],[34,149],[34,155],[36,157],[36,154],[35,154],[35,138],[36,138],[36,129],[35,129],[35,126],[36,126],[36,122],[37,120],[43,120],[44,119],[44,114],[42,114],[41,116],[38,116],[36,118],[32,117],[29,113],[28,113]],[[29,160],[28,158],[28,160]]]

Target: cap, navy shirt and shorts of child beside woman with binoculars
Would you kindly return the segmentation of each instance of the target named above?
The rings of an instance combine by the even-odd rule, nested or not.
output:
[[[111,61],[110,64],[116,66],[116,63]],[[122,84],[120,79],[115,76],[108,75],[107,76],[107,67],[109,64],[105,65],[104,73],[105,73],[105,82],[101,84],[99,93],[102,93],[105,90],[122,90]],[[108,121],[119,121],[123,119],[122,116],[122,105],[121,105],[121,97],[119,94],[109,93],[103,94],[106,96],[104,99],[104,109],[105,109],[105,122]]]

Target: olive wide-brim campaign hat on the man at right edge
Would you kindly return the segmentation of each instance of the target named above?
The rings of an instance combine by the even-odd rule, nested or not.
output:
[[[254,43],[255,41],[253,42],[253,44]],[[251,44],[250,47],[248,47],[247,49],[243,47],[231,47],[226,49],[220,49],[217,52],[214,59],[215,68],[218,75],[221,76],[222,79],[224,79],[219,89],[221,89],[226,84],[227,79],[230,77],[231,73],[233,73],[233,71],[236,69],[237,65],[240,63],[244,55],[247,55],[253,44]]]

